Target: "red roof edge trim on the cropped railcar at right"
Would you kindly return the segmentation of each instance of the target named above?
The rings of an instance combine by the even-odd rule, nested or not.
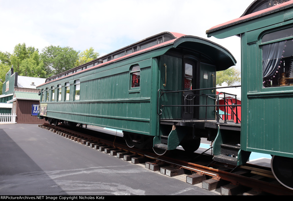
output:
[[[287,5],[289,5],[289,4],[293,4],[293,0],[291,0],[291,1],[287,1],[287,2],[282,3],[282,4],[278,4],[278,5],[276,5],[276,6],[272,6],[272,7],[270,7],[270,8],[266,8],[266,9],[261,10],[261,11],[257,11],[257,12],[255,12],[255,13],[248,14],[248,15],[243,16],[243,17],[240,17],[240,18],[236,18],[236,19],[234,19],[234,20],[230,20],[230,21],[228,21],[228,22],[225,22],[225,23],[222,23],[222,24],[219,24],[219,25],[216,25],[216,26],[210,28],[209,30],[207,30],[207,33],[208,33],[210,30],[213,30],[213,29],[216,29],[216,28],[219,28],[219,27],[225,26],[225,25],[229,25],[229,24],[232,24],[232,23],[235,23],[235,22],[241,21],[241,20],[245,20],[245,19],[247,19],[247,18],[251,18],[251,17],[253,17],[253,16],[257,16],[257,15],[260,15],[260,14],[262,14],[262,13],[266,13],[266,12],[268,12],[268,11],[272,11],[272,10],[278,9],[278,8],[280,8],[280,7],[283,7],[283,6],[287,6]]]

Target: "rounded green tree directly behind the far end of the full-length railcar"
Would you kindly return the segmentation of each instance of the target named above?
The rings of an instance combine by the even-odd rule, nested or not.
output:
[[[75,67],[79,51],[71,47],[60,47],[50,45],[42,49],[40,57],[44,62],[47,75],[57,75]]]

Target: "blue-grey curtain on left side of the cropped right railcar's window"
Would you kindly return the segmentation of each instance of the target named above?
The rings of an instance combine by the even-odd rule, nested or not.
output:
[[[275,75],[281,61],[285,41],[267,44],[263,50],[263,81],[267,81]]]

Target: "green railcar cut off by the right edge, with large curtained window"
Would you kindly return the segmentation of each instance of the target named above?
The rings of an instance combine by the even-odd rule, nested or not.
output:
[[[240,18],[207,30],[207,35],[241,37],[238,158],[241,153],[271,154],[275,177],[293,189],[293,1],[253,1]]]

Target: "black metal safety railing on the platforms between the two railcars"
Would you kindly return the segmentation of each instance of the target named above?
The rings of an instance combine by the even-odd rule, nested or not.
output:
[[[219,119],[220,114],[219,114],[219,107],[224,107],[224,123],[227,123],[227,119],[228,119],[228,108],[231,109],[231,119],[232,117],[236,117],[236,123],[240,122],[240,119],[238,118],[238,109],[237,107],[241,106],[241,104],[237,104],[237,95],[235,94],[230,94],[230,93],[226,93],[226,92],[219,92],[217,95],[215,94],[187,94],[187,95],[183,95],[183,105],[163,105],[161,104],[161,108],[159,106],[159,102],[160,102],[160,98],[164,95],[164,94],[169,94],[169,93],[180,93],[180,92],[196,92],[196,91],[201,91],[201,90],[212,90],[212,89],[222,89],[222,88],[230,88],[230,87],[241,87],[241,85],[237,85],[237,86],[229,86],[229,87],[212,87],[212,88],[205,88],[205,89],[192,89],[192,90],[180,90],[180,91],[172,91],[172,90],[164,90],[164,89],[159,89],[158,90],[158,110],[157,110],[157,114],[161,115],[162,114],[162,109],[164,107],[182,107],[182,111],[183,111],[183,117],[182,120],[185,121],[185,108],[186,107],[205,107],[205,121],[207,121],[207,107],[216,107],[216,113],[217,113],[217,123],[219,123]],[[160,93],[161,92],[161,93]],[[220,105],[219,101],[220,101],[220,95],[224,96],[224,105]],[[226,95],[229,95],[228,97],[226,97]],[[206,104],[205,105],[195,105],[195,104],[185,104],[186,100],[190,101],[193,100],[194,103],[194,99],[195,97],[206,97]],[[215,97],[215,98],[213,98]],[[231,99],[231,103],[232,103],[232,98],[235,97],[235,104],[229,104],[229,99]],[[216,104],[212,104],[212,105],[208,105],[208,98],[212,98],[216,101]],[[235,107],[235,112],[233,111],[233,107]],[[191,117],[191,121],[193,121],[193,116],[194,116],[194,109],[191,109],[192,111],[192,117]],[[227,112],[226,112],[227,111]]]

